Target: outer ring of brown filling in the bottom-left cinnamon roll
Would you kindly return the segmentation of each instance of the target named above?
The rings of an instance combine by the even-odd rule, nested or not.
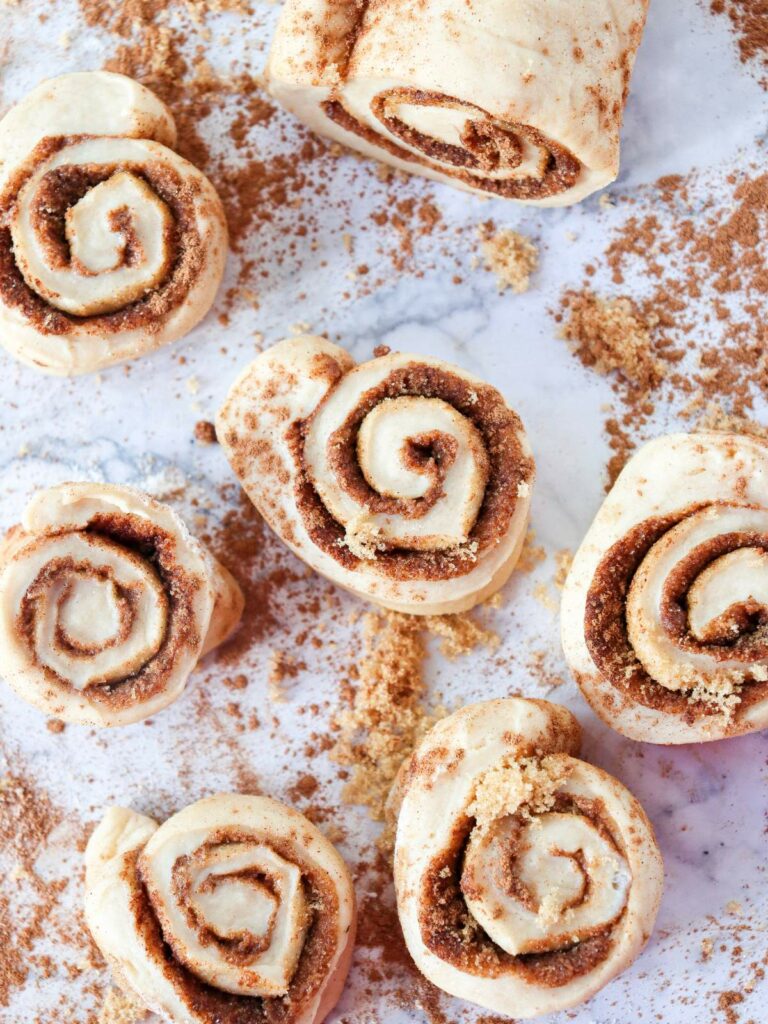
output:
[[[220,828],[208,843],[252,843],[247,829]],[[126,858],[126,872],[133,890],[131,910],[147,955],[163,965],[163,973],[189,1012],[205,1024],[291,1024],[312,1005],[333,967],[339,944],[339,897],[332,879],[303,859],[295,846],[270,839],[274,852],[297,864],[310,908],[304,945],[287,996],[234,995],[214,988],[180,964],[166,942],[145,887],[139,851]]]

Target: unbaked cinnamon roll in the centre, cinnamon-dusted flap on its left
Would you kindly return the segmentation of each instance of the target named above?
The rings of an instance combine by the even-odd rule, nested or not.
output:
[[[534,481],[525,432],[458,367],[388,350],[355,366],[325,338],[292,338],[241,375],[217,433],[282,540],[384,607],[461,611],[517,561]]]

